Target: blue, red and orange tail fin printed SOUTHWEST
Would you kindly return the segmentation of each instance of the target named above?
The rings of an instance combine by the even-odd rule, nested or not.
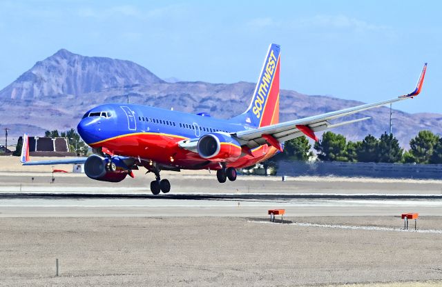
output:
[[[254,127],[279,122],[280,46],[270,44],[249,108],[233,120]]]

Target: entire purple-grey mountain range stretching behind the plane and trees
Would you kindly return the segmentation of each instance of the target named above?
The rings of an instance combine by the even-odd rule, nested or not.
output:
[[[0,91],[2,123],[17,125],[10,135],[18,137],[23,125],[30,135],[41,130],[68,130],[77,126],[84,112],[102,103],[140,103],[185,112],[210,112],[227,119],[249,106],[254,83],[205,83],[202,81],[163,81],[131,61],[103,57],[84,57],[68,50],[39,61],[16,81]],[[280,91],[280,120],[318,115],[361,104],[334,97],[302,95],[292,90]],[[336,128],[350,140],[360,140],[368,133],[380,136],[389,130],[390,109],[367,110],[346,119],[372,117],[368,121]],[[408,114],[394,110],[394,135],[403,146],[419,130],[442,134],[442,115]]]

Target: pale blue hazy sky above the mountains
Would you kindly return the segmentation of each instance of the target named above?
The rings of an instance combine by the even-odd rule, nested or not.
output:
[[[254,82],[273,42],[281,88],[307,95],[390,99],[414,89],[427,61],[419,99],[394,108],[442,112],[441,3],[0,1],[0,89],[60,48],[162,78]]]

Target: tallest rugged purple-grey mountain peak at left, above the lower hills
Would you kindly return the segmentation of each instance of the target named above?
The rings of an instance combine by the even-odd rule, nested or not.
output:
[[[41,99],[81,95],[106,88],[151,85],[162,79],[137,63],[105,57],[85,57],[66,49],[38,61],[0,91],[0,99]]]

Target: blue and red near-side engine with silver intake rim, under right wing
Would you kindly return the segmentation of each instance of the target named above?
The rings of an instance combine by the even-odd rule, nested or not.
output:
[[[230,135],[214,132],[198,140],[198,154],[211,161],[236,161],[241,155],[241,146]]]

